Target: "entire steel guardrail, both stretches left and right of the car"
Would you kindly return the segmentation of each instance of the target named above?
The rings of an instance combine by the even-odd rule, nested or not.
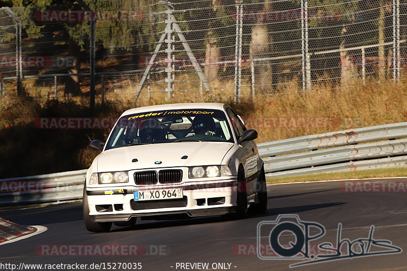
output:
[[[376,142],[372,142],[376,141]],[[269,177],[407,166],[407,122],[257,144]],[[0,206],[80,200],[86,169],[0,179]]]

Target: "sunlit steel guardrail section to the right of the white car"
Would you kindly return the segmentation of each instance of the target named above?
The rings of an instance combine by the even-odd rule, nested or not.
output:
[[[294,176],[405,166],[406,137],[407,122],[404,122],[289,138],[257,146],[265,161],[267,176]]]

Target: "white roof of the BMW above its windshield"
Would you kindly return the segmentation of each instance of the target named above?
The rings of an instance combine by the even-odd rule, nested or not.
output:
[[[227,104],[222,103],[183,103],[183,104],[160,104],[160,105],[152,105],[152,106],[143,106],[132,108],[126,110],[122,116],[130,115],[130,114],[137,114],[141,112],[147,111],[159,111],[159,110],[176,110],[176,109],[218,109],[224,110],[224,106]]]

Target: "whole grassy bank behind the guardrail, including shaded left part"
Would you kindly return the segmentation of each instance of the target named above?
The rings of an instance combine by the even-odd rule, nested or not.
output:
[[[189,81],[190,79],[194,81]],[[402,78],[407,78],[403,76]],[[183,79],[177,87],[178,89],[199,89],[197,78],[184,75],[179,77]],[[256,129],[259,133],[257,142],[272,141],[284,138],[292,138],[303,135],[326,133],[343,129],[352,129],[358,127],[367,127],[381,124],[398,123],[407,121],[407,80],[402,79],[398,83],[393,83],[389,80],[386,82],[376,82],[375,80],[367,81],[366,85],[362,85],[360,80],[350,83],[346,86],[329,85],[324,83],[313,84],[312,92],[301,92],[301,88],[296,83],[285,82],[275,90],[274,95],[256,96],[254,100],[250,99],[250,86],[248,82],[243,82],[243,98],[240,103],[234,104],[232,95],[234,91],[233,81],[212,81],[211,86],[215,97],[213,99],[209,95],[199,95],[199,91],[176,91],[173,97],[167,99],[165,93],[154,92],[152,99],[149,100],[146,95],[146,87],[143,88],[139,100],[133,101],[134,83],[128,89],[114,89],[111,87],[110,92],[106,93],[107,101],[105,106],[100,106],[101,98],[97,96],[97,104],[99,107],[96,111],[89,114],[86,111],[88,107],[89,97],[84,94],[81,97],[61,98],[57,102],[51,102],[48,97],[49,89],[37,89],[30,91],[30,96],[34,99],[16,99],[11,96],[0,99],[0,141],[6,146],[4,152],[0,152],[3,161],[14,159],[10,154],[13,154],[14,149],[20,148],[21,155],[27,161],[30,161],[31,168],[41,168],[41,159],[38,154],[26,153],[21,146],[32,147],[33,143],[39,145],[38,150],[41,153],[51,154],[55,148],[52,142],[47,142],[41,146],[41,138],[33,138],[23,136],[28,131],[23,129],[33,130],[33,121],[35,117],[55,117],[55,116],[112,116],[118,117],[124,110],[134,107],[156,105],[164,103],[189,103],[189,102],[224,102],[230,104],[235,110],[246,120],[248,128]],[[99,86],[98,86],[99,87]],[[99,89],[97,87],[97,89]],[[152,91],[165,88],[165,85],[154,85]],[[116,93],[116,95],[114,95]],[[50,110],[51,108],[52,110]],[[76,109],[77,110],[76,110]],[[75,111],[76,110],[76,111]],[[81,115],[82,114],[82,115]],[[322,122],[315,123],[315,118]],[[17,127],[19,126],[19,127]],[[15,128],[21,135],[18,140],[11,140],[11,130]],[[9,131],[9,132],[7,132]],[[86,168],[92,162],[96,153],[90,152],[86,142],[88,139],[93,139],[94,136],[107,135],[107,131],[50,131],[45,130],[41,133],[41,137],[46,137],[48,134],[56,132],[67,138],[70,144],[69,148],[75,150],[71,152],[73,156],[63,156],[59,159],[67,160],[67,168],[59,168],[62,170],[71,170],[77,168]],[[80,133],[82,141],[78,143],[75,137]],[[3,136],[1,136],[3,135]],[[74,136],[73,136],[74,135]],[[11,138],[5,138],[11,137]],[[48,137],[51,140],[51,136]],[[71,140],[72,139],[72,140]],[[86,141],[86,142],[85,142]],[[54,142],[55,143],[55,142]],[[67,143],[67,144],[68,144]],[[19,147],[20,146],[20,147]],[[51,150],[44,149],[49,147]],[[7,151],[6,151],[7,149]],[[14,152],[16,153],[16,152]],[[17,152],[19,153],[19,152]],[[51,157],[49,157],[51,158]],[[75,160],[76,168],[68,168],[71,161]],[[0,161],[1,162],[1,161]],[[59,161],[63,164],[65,161]],[[10,176],[15,174],[13,168],[9,168],[6,164],[0,167],[0,176]],[[48,172],[54,170],[47,169]],[[24,174],[37,174],[33,172],[24,172]],[[45,172],[40,172],[45,173]]]

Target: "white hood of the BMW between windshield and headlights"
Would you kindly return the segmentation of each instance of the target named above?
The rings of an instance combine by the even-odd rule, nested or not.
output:
[[[220,165],[229,142],[156,143],[108,149],[97,157],[99,172],[143,168]],[[187,156],[186,159],[181,157]],[[132,162],[137,159],[137,162]],[[161,161],[161,164],[155,164]]]

